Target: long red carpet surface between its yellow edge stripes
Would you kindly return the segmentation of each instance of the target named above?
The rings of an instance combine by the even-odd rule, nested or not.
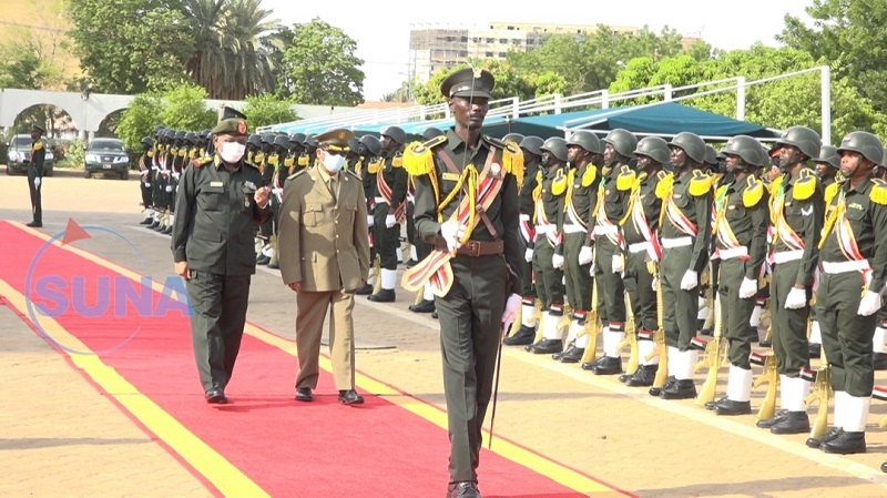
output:
[[[332,376],[323,372],[315,403],[298,404],[292,397],[295,357],[248,335],[227,389],[232,404],[211,407],[203,402],[186,317],[175,311],[140,317],[132,304],[126,313],[115,313],[114,303],[103,311],[96,289],[120,282],[113,281],[119,275],[6,222],[0,222],[0,278],[26,297],[40,302],[45,299],[39,296],[50,296],[58,303],[67,295],[71,302],[98,305],[93,317],[84,316],[89,313],[80,306],[54,318],[272,496],[445,494],[447,434],[430,421],[367,393],[363,407],[339,406]],[[155,305],[162,301],[156,292],[151,298]],[[487,497],[583,496],[486,449],[480,472]]]

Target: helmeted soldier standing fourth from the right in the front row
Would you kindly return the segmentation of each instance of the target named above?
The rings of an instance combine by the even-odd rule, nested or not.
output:
[[[705,142],[690,132],[676,134],[669,143],[674,173],[660,192],[665,211],[662,236],[662,326],[667,346],[669,374],[673,382],[651,388],[663,399],[696,397],[693,367],[699,352],[690,342],[696,336],[699,315],[699,275],[708,264],[712,242],[712,185],[714,176],[702,172]]]

